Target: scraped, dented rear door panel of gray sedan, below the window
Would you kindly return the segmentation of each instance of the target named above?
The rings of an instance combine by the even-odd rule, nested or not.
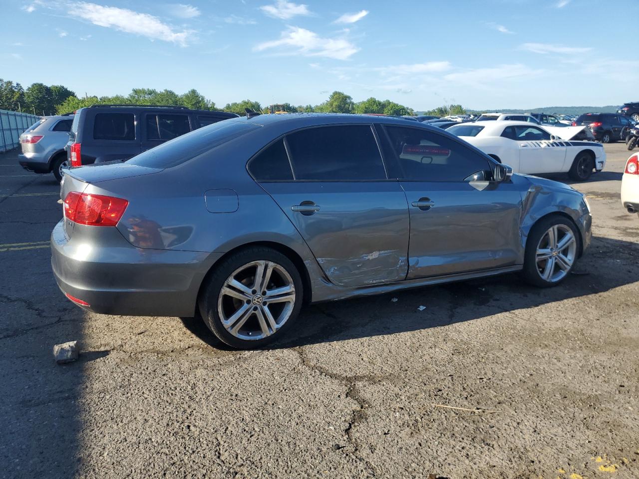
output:
[[[302,235],[332,284],[403,280],[409,219],[397,181],[262,183]],[[314,204],[317,211],[294,211]]]

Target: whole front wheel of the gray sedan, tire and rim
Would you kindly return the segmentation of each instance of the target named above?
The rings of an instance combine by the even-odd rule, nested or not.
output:
[[[549,236],[551,230],[554,241]],[[553,215],[537,222],[526,241],[523,278],[537,287],[560,284],[573,270],[579,254],[579,238],[577,227],[568,218]],[[566,245],[562,245],[564,241]]]

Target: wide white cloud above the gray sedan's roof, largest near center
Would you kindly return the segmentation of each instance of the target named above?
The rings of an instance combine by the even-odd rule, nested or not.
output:
[[[283,31],[279,40],[259,43],[253,50],[261,52],[268,49],[281,49],[284,54],[302,54],[304,56],[318,56],[348,59],[359,51],[353,43],[344,38],[322,38],[318,34],[300,27],[288,27]]]

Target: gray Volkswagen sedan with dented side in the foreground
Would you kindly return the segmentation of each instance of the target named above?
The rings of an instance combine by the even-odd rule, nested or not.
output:
[[[556,285],[591,236],[573,188],[373,116],[227,119],[125,163],[69,169],[61,197],[52,267],[70,300],[199,312],[238,348],[293,330],[303,303],[511,271]]]

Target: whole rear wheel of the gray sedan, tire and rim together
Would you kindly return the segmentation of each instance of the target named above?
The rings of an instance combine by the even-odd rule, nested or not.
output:
[[[255,282],[259,268],[268,274],[266,285]],[[273,294],[276,290],[279,293]],[[291,328],[303,299],[302,277],[295,264],[271,248],[251,247],[215,268],[200,294],[199,310],[206,326],[224,344],[256,349]]]

